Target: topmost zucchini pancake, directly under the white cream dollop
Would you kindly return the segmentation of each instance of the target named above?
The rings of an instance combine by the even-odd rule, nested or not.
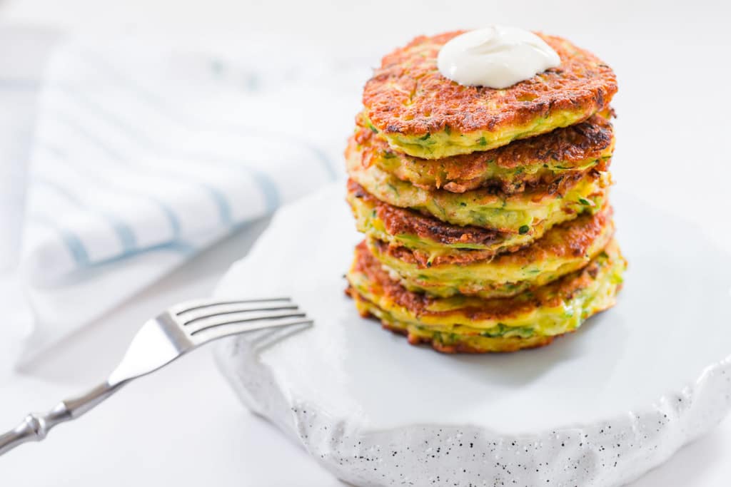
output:
[[[436,159],[490,150],[591,117],[617,91],[612,69],[561,37],[538,34],[561,66],[509,88],[462,86],[436,56],[463,31],[417,37],[382,60],[363,91],[364,119],[395,150]]]

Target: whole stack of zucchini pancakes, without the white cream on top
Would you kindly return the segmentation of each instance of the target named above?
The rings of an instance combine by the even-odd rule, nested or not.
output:
[[[436,64],[458,34],[417,37],[366,83],[345,153],[366,234],[348,293],[442,352],[547,345],[621,288],[607,199],[616,77],[538,34],[561,66],[504,89],[459,85]]]

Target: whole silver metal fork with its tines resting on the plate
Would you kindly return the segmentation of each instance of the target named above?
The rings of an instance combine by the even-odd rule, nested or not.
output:
[[[49,413],[26,416],[15,429],[0,435],[0,455],[25,442],[43,440],[54,426],[78,418],[129,381],[170,364],[200,345],[246,331],[311,324],[289,298],[176,304],[145,322],[105,382],[82,396],[59,402]]]

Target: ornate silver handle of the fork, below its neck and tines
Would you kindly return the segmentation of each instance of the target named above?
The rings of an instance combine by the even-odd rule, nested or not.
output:
[[[0,455],[23,443],[43,440],[54,426],[83,415],[118,391],[122,385],[123,383],[111,385],[105,382],[82,396],[59,402],[46,414],[27,415],[15,429],[0,434]]]

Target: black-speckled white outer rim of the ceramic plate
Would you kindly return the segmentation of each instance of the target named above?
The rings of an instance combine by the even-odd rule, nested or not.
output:
[[[252,411],[279,426],[338,478],[359,486],[469,485],[477,479],[488,479],[485,485],[518,480],[620,486],[708,432],[731,408],[731,354],[652,404],[602,421],[517,435],[469,424],[376,430],[327,415],[282,388],[246,338],[219,343],[216,362]]]

